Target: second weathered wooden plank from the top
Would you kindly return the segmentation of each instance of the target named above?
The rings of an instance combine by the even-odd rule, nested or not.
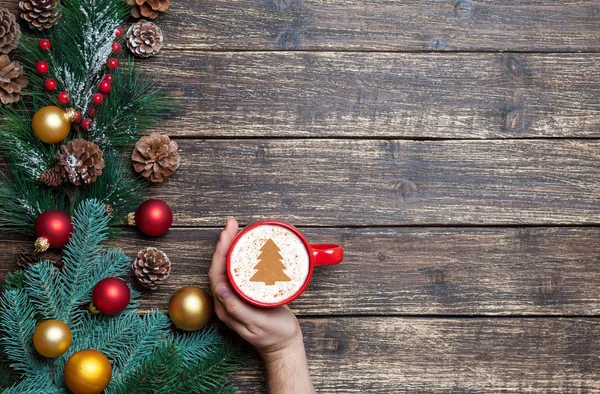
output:
[[[142,64],[180,96],[161,125],[174,136],[600,137],[591,54],[175,51]]]

